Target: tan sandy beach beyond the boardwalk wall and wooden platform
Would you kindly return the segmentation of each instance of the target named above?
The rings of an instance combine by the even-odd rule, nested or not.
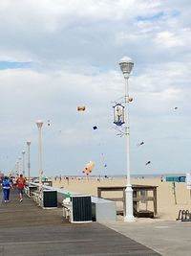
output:
[[[114,187],[125,186],[126,179],[124,178],[77,178],[70,177],[70,179],[57,177],[53,180],[53,187],[64,188],[65,190],[82,193],[85,195],[91,195],[97,197],[97,187]],[[176,220],[178,213],[181,210],[191,210],[191,197],[190,191],[186,188],[186,183],[175,182],[175,190],[173,189],[173,182],[161,182],[160,178],[132,178],[132,184],[135,185],[151,185],[158,186],[157,188],[157,204],[158,215],[160,220]],[[176,198],[174,195],[176,193]],[[109,195],[105,195],[106,198],[118,198],[122,197],[122,193],[110,192]],[[103,195],[104,198],[104,195]],[[177,203],[176,203],[177,202]],[[120,202],[117,202],[117,207],[122,207]],[[140,208],[153,211],[153,203],[150,201],[147,204],[142,203]]]

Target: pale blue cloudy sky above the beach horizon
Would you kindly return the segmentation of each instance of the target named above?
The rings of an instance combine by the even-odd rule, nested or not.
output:
[[[126,56],[131,175],[190,172],[190,9],[189,0],[1,1],[0,171],[24,162],[27,173],[31,140],[38,175],[42,120],[45,175],[83,175],[89,161],[93,175],[126,175],[126,138],[113,123]]]

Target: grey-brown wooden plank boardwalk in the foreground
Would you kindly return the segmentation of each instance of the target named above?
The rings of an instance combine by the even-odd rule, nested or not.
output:
[[[62,209],[44,210],[31,198],[0,206],[0,256],[159,255],[152,249],[97,222],[74,224]]]

